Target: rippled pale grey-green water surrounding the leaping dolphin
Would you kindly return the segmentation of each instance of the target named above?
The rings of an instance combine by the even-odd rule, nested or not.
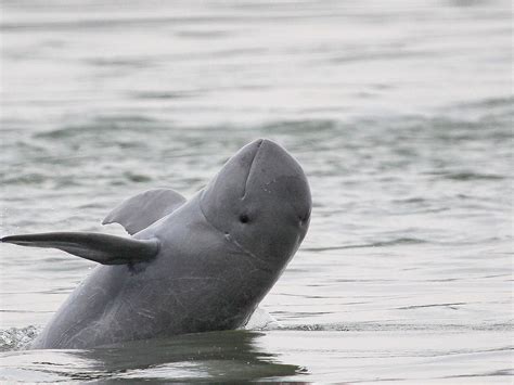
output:
[[[94,266],[2,245],[0,378],[513,381],[510,1],[2,1],[1,234],[191,196],[246,142],[304,166],[282,324],[18,350]]]

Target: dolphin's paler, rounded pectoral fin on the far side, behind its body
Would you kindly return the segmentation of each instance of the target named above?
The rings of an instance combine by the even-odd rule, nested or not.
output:
[[[134,234],[175,211],[185,198],[171,189],[154,189],[129,197],[116,206],[102,224],[119,223]]]

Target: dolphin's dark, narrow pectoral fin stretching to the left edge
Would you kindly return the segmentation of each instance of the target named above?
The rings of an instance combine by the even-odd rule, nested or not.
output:
[[[154,258],[159,248],[155,240],[133,240],[90,232],[49,232],[10,235],[0,240],[30,247],[52,247],[102,265],[136,264]]]

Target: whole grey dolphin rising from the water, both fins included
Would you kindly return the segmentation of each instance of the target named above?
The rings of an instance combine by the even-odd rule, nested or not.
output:
[[[299,164],[260,139],[190,200],[157,189],[116,207],[130,238],[89,232],[11,235],[101,264],[33,348],[89,348],[243,326],[298,249],[311,195]]]

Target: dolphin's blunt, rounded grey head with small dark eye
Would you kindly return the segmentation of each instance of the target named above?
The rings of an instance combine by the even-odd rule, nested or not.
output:
[[[259,139],[226,163],[200,205],[227,240],[280,269],[305,238],[312,202],[300,165],[279,144]]]

